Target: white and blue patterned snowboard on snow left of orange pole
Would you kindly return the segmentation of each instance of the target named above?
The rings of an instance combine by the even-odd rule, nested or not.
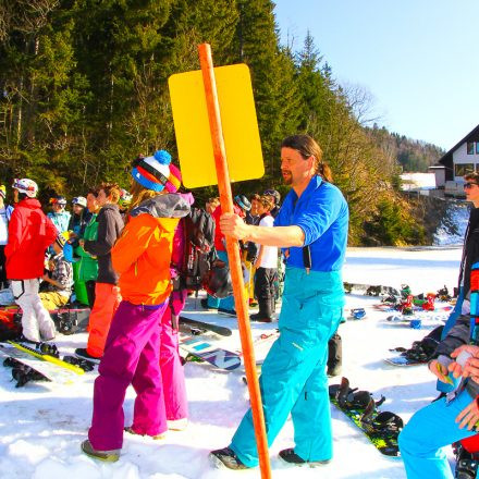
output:
[[[188,355],[225,371],[233,371],[242,365],[242,358],[238,354],[217,347],[202,337],[180,334],[180,348]]]

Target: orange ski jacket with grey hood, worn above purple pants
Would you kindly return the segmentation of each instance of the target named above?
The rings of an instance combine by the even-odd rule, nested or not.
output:
[[[111,257],[120,274],[122,298],[134,305],[159,305],[171,292],[170,261],[180,218],[189,212],[180,194],[158,195],[130,213]]]

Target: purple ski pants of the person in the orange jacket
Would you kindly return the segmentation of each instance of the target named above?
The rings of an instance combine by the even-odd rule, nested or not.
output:
[[[123,402],[126,389],[137,394],[133,430],[157,435],[167,430],[160,336],[164,308],[120,303],[114,314],[95,380],[94,414],[88,439],[97,451],[119,450],[123,444]]]

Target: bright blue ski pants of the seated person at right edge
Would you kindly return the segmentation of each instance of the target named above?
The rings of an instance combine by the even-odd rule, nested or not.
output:
[[[445,397],[435,401],[410,418],[398,438],[408,479],[453,479],[444,446],[477,434],[456,423],[457,415],[471,402],[464,390],[450,403]]]

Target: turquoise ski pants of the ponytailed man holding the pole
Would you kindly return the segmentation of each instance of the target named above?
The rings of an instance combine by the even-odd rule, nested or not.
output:
[[[341,272],[286,269],[281,334],[265,359],[259,382],[268,444],[291,414],[294,450],[305,460],[327,460],[333,453],[326,364],[328,341],[340,324],[343,306]],[[258,465],[250,409],[230,447],[246,466]]]

